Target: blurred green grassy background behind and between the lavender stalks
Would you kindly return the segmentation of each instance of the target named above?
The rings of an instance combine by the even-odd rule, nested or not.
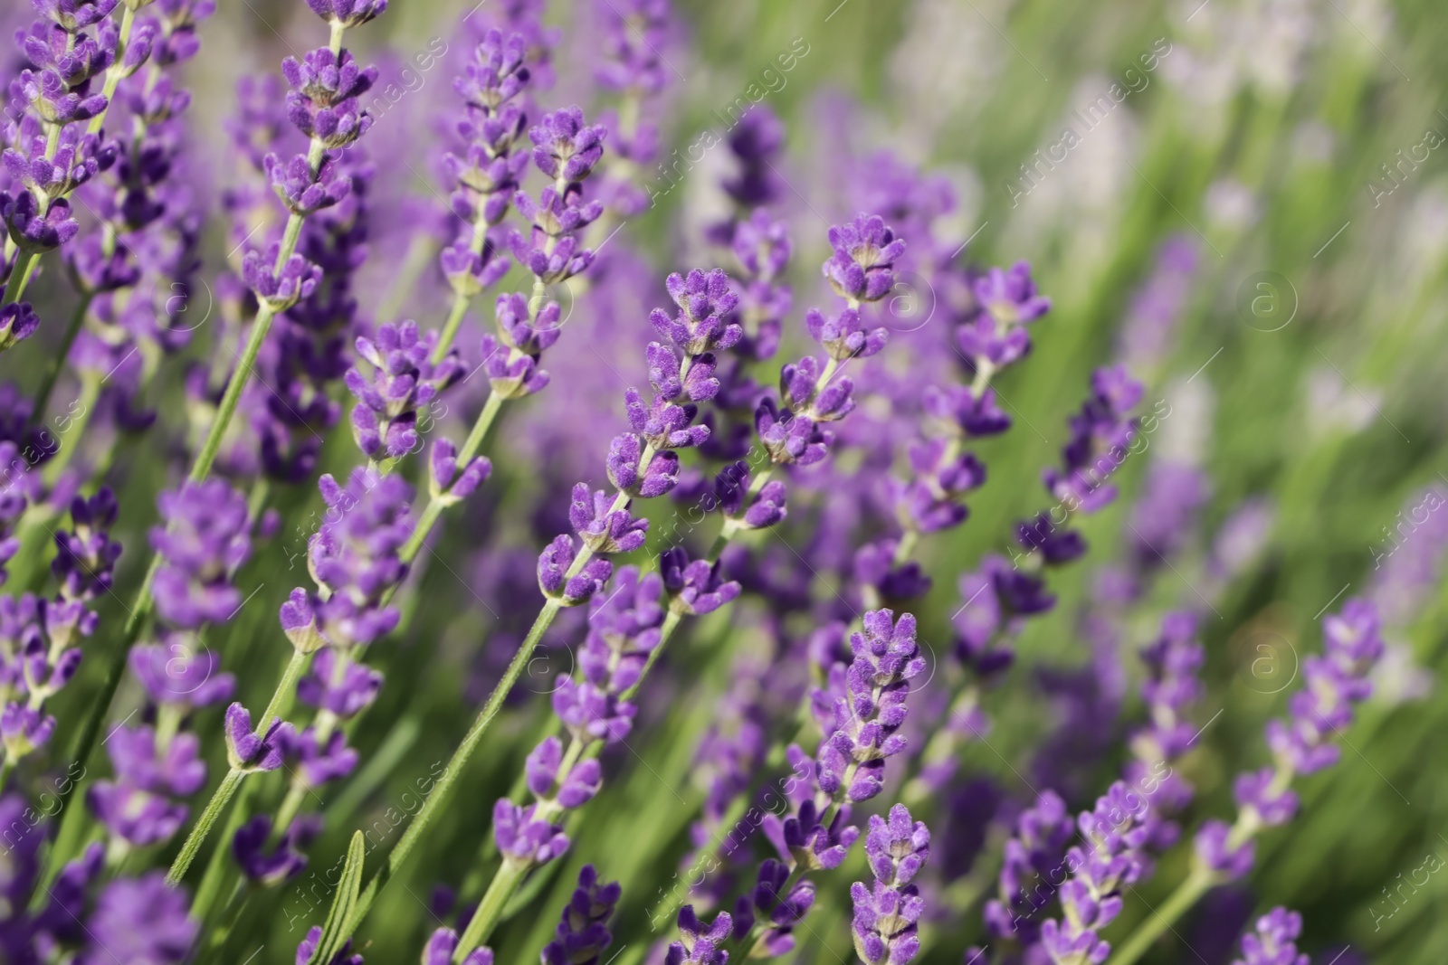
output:
[[[374,55],[384,46],[405,55],[439,36],[452,41],[469,6],[394,0],[395,16],[379,20],[378,30],[359,30],[356,43]],[[1199,788],[1189,823],[1228,816],[1231,775],[1267,757],[1261,726],[1283,709],[1287,692],[1277,684],[1280,674],[1290,676],[1300,655],[1318,648],[1318,621],[1329,603],[1374,586],[1384,528],[1397,524],[1399,511],[1415,505],[1425,486],[1445,482],[1439,473],[1448,469],[1441,451],[1448,411],[1448,114],[1442,110],[1448,61],[1441,52],[1448,43],[1448,10],[1438,0],[678,0],[676,7],[688,36],[669,52],[682,80],[665,132],[681,148],[717,126],[715,111],[756,81],[778,52],[798,38],[808,43],[809,54],[767,94],[789,130],[783,174],[795,197],[785,207],[798,229],[799,305],[811,304],[818,285],[811,268],[824,249],[818,218],[850,213],[847,200],[830,195],[831,168],[850,162],[828,136],[827,107],[838,97],[859,103],[847,122],[851,143],[889,148],[950,178],[959,207],[943,234],[972,239],[964,259],[976,265],[1030,259],[1041,289],[1054,298],[1053,311],[1034,330],[1032,357],[999,382],[1019,421],[982,451],[990,479],[972,502],[972,519],[947,538],[927,540],[921,550],[935,577],[919,613],[927,641],[950,635],[959,605],[956,574],[1001,547],[1012,519],[1040,508],[1040,467],[1064,441],[1066,418],[1090,367],[1119,354],[1118,331],[1161,245],[1186,239],[1196,249],[1197,268],[1170,346],[1153,370],[1138,372],[1148,379],[1148,402],[1166,399],[1171,417],[1151,438],[1151,454],[1128,460],[1121,477],[1125,498],[1087,521],[1087,566],[1053,584],[1063,605],[1031,626],[1019,644],[1019,666],[988,696],[995,718],[990,744],[967,748],[967,768],[993,777],[1011,794],[1027,790],[1022,774],[1034,749],[1058,725],[1053,703],[1032,686],[1032,671],[1089,660],[1080,618],[1096,564],[1125,553],[1144,464],[1169,453],[1208,472],[1209,501],[1192,545],[1157,579],[1128,642],[1147,642],[1169,606],[1202,609],[1211,684],[1200,703],[1202,723],[1221,713],[1211,718],[1202,748],[1186,764]],[[235,104],[236,78],[274,71],[277,61],[314,41],[314,25],[303,14],[295,0],[227,1],[204,26],[204,54],[188,80],[203,104],[194,120],[198,148],[214,158],[214,169],[226,169],[219,132]],[[586,17],[556,0],[549,19],[566,36],[557,95],[586,97],[566,75],[568,58],[588,43]],[[1144,69],[1140,58],[1158,42],[1170,52]],[[426,77],[443,97],[449,82]],[[1022,192],[1022,165],[1057,145],[1067,124],[1080,132],[1073,111],[1116,82],[1131,87],[1129,97]],[[407,116],[395,126],[391,119],[379,123],[374,150],[417,158],[407,168],[416,182],[401,188],[426,195],[433,188],[424,145],[410,133],[418,129],[411,116],[420,110],[404,100],[398,111]],[[1429,135],[1438,146],[1426,161],[1394,168]],[[691,208],[702,204],[701,194],[715,179],[710,163],[627,229],[627,240],[656,269],[654,289],[665,272],[694,265],[691,258],[702,250],[686,227],[698,226]],[[385,291],[398,265],[397,258],[374,256],[368,272],[378,291]],[[919,279],[911,298],[925,308],[911,311],[928,314],[935,297]],[[652,291],[640,298],[644,307],[656,304]],[[1260,298],[1266,301],[1254,301]],[[578,330],[563,346],[592,339],[589,311],[582,301],[579,317],[569,323]],[[439,318],[426,301],[404,314]],[[623,323],[636,326],[639,347],[650,337],[641,314]],[[801,333],[792,337],[799,341]],[[628,376],[637,378],[637,347],[630,352]],[[449,527],[420,576],[421,592],[408,598],[416,606],[408,632],[378,655],[388,684],[355,735],[363,765],[326,802],[329,830],[313,867],[269,904],[248,910],[246,926],[227,948],[229,961],[245,959],[256,945],[265,946],[258,962],[290,959],[287,949],[300,929],[324,914],[329,888],[319,881],[329,870],[334,874],[333,861],[352,829],[369,829],[378,845],[374,859],[385,854],[400,822],[416,810],[410,802],[417,781],[446,761],[473,702],[485,693],[459,681],[476,676],[473,651],[492,618],[487,603],[458,583],[472,584],[466,560],[482,532],[530,548],[526,532],[508,522],[536,509],[529,477],[510,464],[511,438],[504,428],[494,447],[504,496],[485,519],[475,512]],[[604,438],[595,440],[598,451],[578,459],[601,459]],[[333,440],[327,456],[334,472],[345,470],[350,441]],[[155,490],[164,466],[130,459],[133,495],[126,512],[139,532],[151,519],[145,493]],[[1196,583],[1211,538],[1248,498],[1273,508],[1266,548],[1202,608]],[[240,579],[248,592],[258,589],[265,605],[248,606],[224,638],[209,641],[240,671],[249,703],[271,692],[285,657],[274,613],[290,586],[306,580],[291,524],[317,509],[316,493],[301,488],[284,495],[281,508],[288,528]],[[521,566],[531,566],[529,553],[521,558]],[[1300,910],[1302,946],[1322,964],[1345,945],[1370,961],[1441,965],[1448,958],[1448,875],[1434,875],[1407,900],[1389,904],[1387,897],[1403,894],[1394,888],[1425,855],[1448,855],[1448,702],[1439,684],[1445,616],[1448,595],[1439,583],[1407,622],[1392,628],[1402,660],[1345,735],[1342,764],[1303,781],[1303,812],[1266,835],[1247,896],[1213,896],[1212,903]],[[715,615],[698,622],[678,648],[672,690],[660,686],[646,694],[657,706],[672,702],[672,709],[640,728],[630,751],[611,755],[618,777],[572,832],[576,845],[568,859],[526,888],[527,901],[517,903],[495,939],[500,962],[531,961],[582,862],[624,884],[614,946],[621,965],[641,961],[668,933],[669,923],[650,924],[650,914],[673,887],[679,856],[689,848],[688,822],[702,797],[691,781],[692,758],[728,684],[731,655],[752,645],[749,628],[747,611]],[[361,936],[371,942],[369,961],[410,961],[424,930],[434,926],[429,910],[434,884],[476,887],[469,875],[478,874],[491,804],[520,773],[531,747],[527,738],[547,713],[536,694],[547,692],[552,673],[568,670],[568,632],[578,632],[576,624],[550,635],[555,645],[540,660],[562,663],[539,666],[536,674],[530,668],[524,690],[534,693],[513,702],[445,822],[375,910]],[[1270,667],[1260,663],[1264,654]],[[84,690],[72,687],[70,699]],[[1128,718],[1132,706],[1128,697]],[[1112,720],[1100,726],[1118,728]],[[1105,788],[1116,767],[1102,762],[1090,787]],[[979,893],[992,887],[999,839],[996,828],[963,891],[953,893],[964,910],[922,929],[921,961],[960,962],[963,949],[980,939]],[[1184,874],[1184,851],[1171,852],[1154,878],[1128,896],[1122,920],[1106,938],[1119,939],[1151,913]],[[863,867],[859,855],[854,865]],[[843,871],[857,877],[862,867],[854,865]],[[849,880],[837,874],[821,887],[795,961],[853,961]],[[317,894],[317,910],[297,917],[308,888]],[[466,897],[466,885],[463,891]],[[1206,935],[1202,927],[1186,920],[1151,961],[1225,962],[1224,952],[1212,949],[1225,949],[1232,936]]]

